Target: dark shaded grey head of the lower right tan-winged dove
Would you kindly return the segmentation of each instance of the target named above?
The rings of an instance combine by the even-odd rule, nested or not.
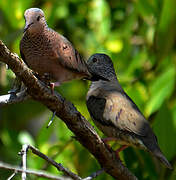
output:
[[[116,73],[112,60],[106,54],[93,54],[87,61],[89,72],[92,74],[92,81],[111,81],[116,79]]]

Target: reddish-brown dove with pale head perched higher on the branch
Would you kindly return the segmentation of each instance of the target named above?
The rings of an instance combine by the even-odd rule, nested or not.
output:
[[[53,81],[54,88],[73,79],[91,78],[81,55],[69,40],[48,27],[41,9],[27,9],[24,18],[20,54],[39,79]]]

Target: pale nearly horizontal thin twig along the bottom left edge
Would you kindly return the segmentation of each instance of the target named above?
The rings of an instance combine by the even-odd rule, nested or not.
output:
[[[32,170],[32,169],[28,169],[28,170],[24,171],[22,168],[19,168],[19,167],[16,167],[16,166],[12,166],[10,164],[3,163],[3,162],[0,162],[0,168],[9,169],[9,170],[15,170],[16,172],[25,172],[27,174],[33,174],[33,175],[36,175],[38,177],[44,177],[44,178],[48,178],[48,179],[66,180],[66,178],[54,176],[54,175],[46,173],[44,171],[36,171],[36,170]]]

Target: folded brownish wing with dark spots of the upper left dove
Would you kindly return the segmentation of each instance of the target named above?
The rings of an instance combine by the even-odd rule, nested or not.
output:
[[[56,54],[59,63],[75,72],[90,75],[88,72],[87,64],[73,45],[62,35],[57,34],[57,48]]]

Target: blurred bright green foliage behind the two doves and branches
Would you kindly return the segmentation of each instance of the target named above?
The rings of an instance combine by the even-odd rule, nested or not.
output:
[[[66,36],[85,59],[96,52],[111,56],[122,86],[151,122],[161,149],[175,167],[176,2],[0,0],[0,39],[17,54],[24,26],[23,13],[30,7],[43,9],[49,27]],[[0,64],[1,95],[10,89],[13,78],[13,73]],[[92,123],[85,106],[87,82],[73,81],[57,90]],[[17,153],[21,145],[28,142],[82,177],[98,170],[96,160],[71,138],[74,134],[61,120],[55,118],[46,129],[51,114],[32,100],[1,108],[0,160],[19,165]],[[121,153],[121,158],[139,179],[176,179],[175,168],[173,171],[165,169],[142,150],[128,148]],[[28,155],[28,167],[58,173],[32,153]],[[0,169],[0,179],[10,174]],[[112,178],[102,174],[97,179]]]

